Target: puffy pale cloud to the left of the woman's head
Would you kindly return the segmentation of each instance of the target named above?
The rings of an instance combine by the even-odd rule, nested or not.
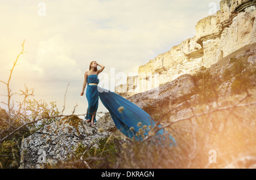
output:
[[[48,82],[76,82],[82,72],[70,54],[71,46],[67,45],[59,34],[49,40],[40,41],[36,66],[40,68],[42,78]]]

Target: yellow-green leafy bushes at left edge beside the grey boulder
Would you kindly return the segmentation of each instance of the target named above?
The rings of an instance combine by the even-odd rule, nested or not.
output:
[[[48,125],[59,119],[60,112],[56,107],[56,102],[50,102],[48,105],[43,100],[36,101],[34,99],[27,100],[24,104],[24,108],[19,111],[11,109],[10,117],[12,126],[8,125],[7,117],[5,117],[6,122],[2,121],[0,124],[0,130],[2,132],[0,138],[8,136],[8,138],[1,143],[0,168],[18,168],[20,163],[19,147],[22,139],[39,130],[44,125]],[[9,135],[15,128],[19,128],[26,123],[28,123],[28,125],[20,128],[20,130],[14,134]]]

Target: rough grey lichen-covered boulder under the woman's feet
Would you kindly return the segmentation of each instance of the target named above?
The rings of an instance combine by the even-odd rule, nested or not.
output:
[[[76,115],[44,126],[38,132],[22,141],[20,154],[25,151],[20,168],[41,168],[44,163],[63,161],[68,158],[78,144],[97,146],[97,140],[110,135],[110,132],[98,132],[97,126],[91,126]]]

